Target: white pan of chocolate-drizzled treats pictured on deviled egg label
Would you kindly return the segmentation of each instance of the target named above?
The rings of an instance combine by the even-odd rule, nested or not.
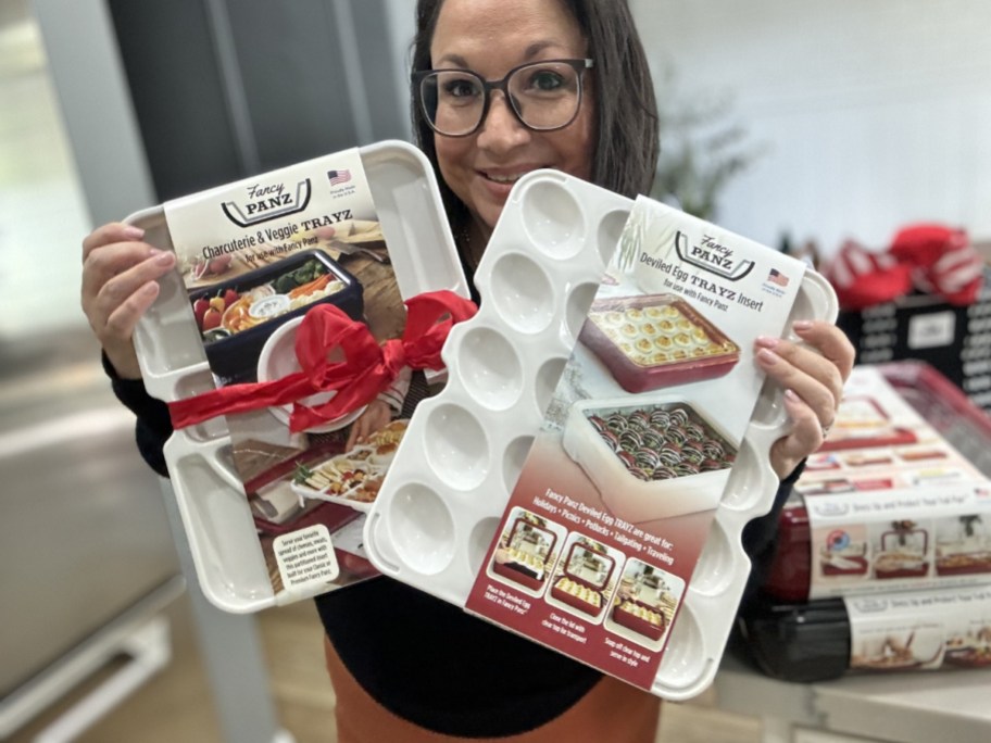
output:
[[[562,443],[610,512],[634,524],[716,508],[738,454],[710,412],[673,394],[577,402]]]

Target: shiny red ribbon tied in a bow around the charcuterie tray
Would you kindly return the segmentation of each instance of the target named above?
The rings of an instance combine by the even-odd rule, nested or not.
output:
[[[296,333],[301,370],[267,382],[230,385],[168,404],[175,429],[218,415],[243,413],[292,403],[289,430],[303,431],[335,420],[369,403],[387,389],[403,366],[440,369],[440,351],[455,323],[472,317],[477,307],[451,291],[417,294],[406,302],[402,338],[381,345],[364,323],[352,320],[333,304],[310,310]],[[340,348],[343,361],[328,362]],[[336,390],[328,402],[306,407],[299,401]]]

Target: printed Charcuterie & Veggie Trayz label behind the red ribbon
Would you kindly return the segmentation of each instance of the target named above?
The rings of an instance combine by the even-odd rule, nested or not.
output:
[[[403,298],[357,150],[172,201],[165,216],[221,391],[300,375],[297,342],[316,308],[373,347],[402,333]],[[341,347],[323,353],[325,364],[348,362]],[[304,399],[316,413],[302,427],[290,427],[291,401],[227,413],[277,601],[375,575],[353,536],[405,430],[407,387],[401,376],[374,402],[333,415],[322,408],[333,391]]]

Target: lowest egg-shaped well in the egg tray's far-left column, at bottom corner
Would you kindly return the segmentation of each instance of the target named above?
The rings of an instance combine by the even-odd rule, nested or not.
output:
[[[432,576],[451,564],[457,529],[447,503],[432,488],[406,482],[389,500],[386,516],[389,539],[406,567]]]

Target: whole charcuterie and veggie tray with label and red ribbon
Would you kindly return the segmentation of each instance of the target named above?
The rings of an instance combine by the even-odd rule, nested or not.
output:
[[[166,464],[208,599],[253,612],[377,575],[363,526],[405,399],[442,379],[447,330],[475,311],[429,163],[380,142],[128,222],[176,254],[136,347],[170,404]],[[386,363],[410,343],[422,366]]]

